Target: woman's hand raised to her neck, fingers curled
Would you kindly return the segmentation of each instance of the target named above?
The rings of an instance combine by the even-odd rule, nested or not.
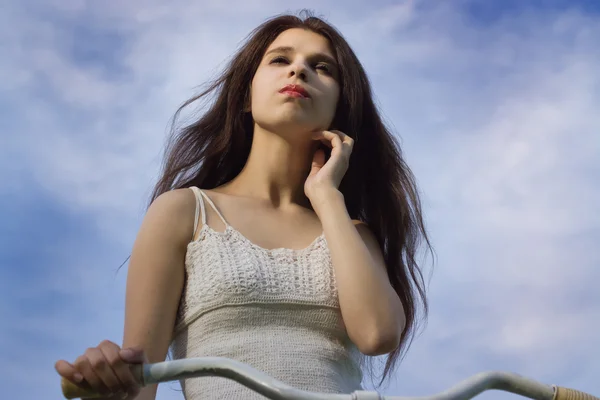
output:
[[[320,141],[331,149],[331,156],[325,161],[325,152],[318,149],[312,160],[308,178],[304,183],[304,194],[313,207],[326,200],[327,196],[339,193],[340,182],[348,170],[354,139],[337,130],[313,133],[313,140]]]

